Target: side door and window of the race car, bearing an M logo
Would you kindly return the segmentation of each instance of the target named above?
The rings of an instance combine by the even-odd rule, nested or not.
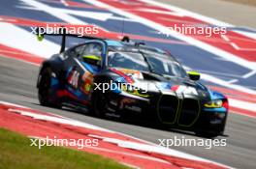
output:
[[[102,70],[102,63],[95,65],[88,62],[88,57],[99,58],[102,61],[104,51],[103,42],[86,42],[66,51],[65,62],[67,98],[80,103],[88,103],[93,90],[93,77]]]

